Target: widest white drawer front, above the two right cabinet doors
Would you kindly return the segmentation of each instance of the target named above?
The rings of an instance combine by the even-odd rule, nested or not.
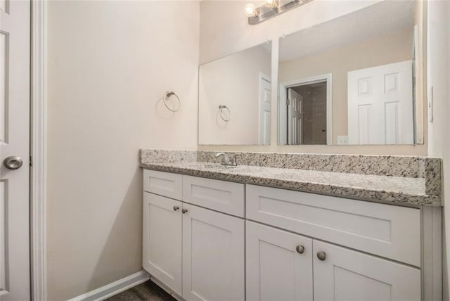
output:
[[[247,185],[247,218],[420,267],[420,210]]]

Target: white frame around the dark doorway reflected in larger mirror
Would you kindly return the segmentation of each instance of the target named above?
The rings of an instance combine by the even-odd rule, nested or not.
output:
[[[316,82],[323,82],[326,80],[326,144],[331,145],[333,143],[333,76],[331,73],[324,75],[316,75],[314,77],[307,77],[303,79],[294,79],[289,82],[281,82],[279,84],[278,93],[280,95],[278,101],[278,144],[287,145],[288,136],[286,136],[285,127],[283,124],[287,124],[286,118],[288,117],[288,111],[286,108],[286,89],[296,87],[302,84],[314,84]]]

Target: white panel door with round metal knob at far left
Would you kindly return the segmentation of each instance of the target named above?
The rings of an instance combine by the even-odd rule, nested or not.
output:
[[[30,1],[0,0],[0,155],[0,299],[30,300]]]

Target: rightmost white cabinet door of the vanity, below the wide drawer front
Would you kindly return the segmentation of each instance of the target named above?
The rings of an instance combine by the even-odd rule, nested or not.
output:
[[[313,241],[314,300],[420,300],[420,270]],[[323,252],[319,260],[318,252]]]

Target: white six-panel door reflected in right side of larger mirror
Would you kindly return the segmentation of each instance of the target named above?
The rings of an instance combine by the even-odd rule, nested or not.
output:
[[[348,73],[349,144],[413,144],[411,60]]]

